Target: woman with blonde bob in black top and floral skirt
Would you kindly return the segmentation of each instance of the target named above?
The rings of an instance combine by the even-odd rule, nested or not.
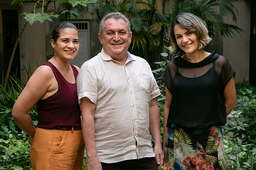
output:
[[[236,105],[235,71],[203,48],[211,41],[204,21],[181,13],[171,26],[172,52],[162,79],[163,170],[226,170],[221,126]]]

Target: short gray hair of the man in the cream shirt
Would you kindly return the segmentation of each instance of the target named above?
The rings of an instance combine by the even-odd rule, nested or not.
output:
[[[101,21],[100,21],[100,24],[99,24],[99,33],[102,35],[103,34],[103,26],[104,26],[104,24],[105,24],[105,21],[107,20],[107,19],[110,19],[110,18],[113,18],[113,19],[115,19],[115,20],[118,20],[118,19],[123,19],[125,22],[126,22],[126,24],[127,24],[127,28],[128,28],[128,32],[129,32],[129,35],[130,35],[130,22],[129,22],[129,20],[128,20],[128,18],[124,15],[124,14],[122,14],[122,13],[120,13],[120,12],[111,12],[111,13],[108,13],[108,14],[106,14],[102,19],[101,19]]]

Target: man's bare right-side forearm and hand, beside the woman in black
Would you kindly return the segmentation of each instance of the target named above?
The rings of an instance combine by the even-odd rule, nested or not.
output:
[[[163,153],[160,137],[160,114],[156,98],[151,100],[149,108],[149,130],[154,139],[154,152],[156,154],[158,169],[160,169],[163,164]]]

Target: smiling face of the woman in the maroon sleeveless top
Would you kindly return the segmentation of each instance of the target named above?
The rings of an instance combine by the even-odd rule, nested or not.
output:
[[[61,29],[57,41],[52,40],[51,43],[52,47],[56,49],[55,57],[72,60],[79,50],[78,32],[74,28]]]

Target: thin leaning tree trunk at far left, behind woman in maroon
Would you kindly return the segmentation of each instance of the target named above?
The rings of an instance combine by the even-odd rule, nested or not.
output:
[[[36,3],[39,3],[39,2],[40,2],[40,0],[37,0]],[[35,4],[36,4],[36,3],[35,3]],[[33,10],[32,10],[31,13],[33,13],[33,12],[34,12],[34,8],[33,8]],[[16,40],[15,45],[14,45],[14,48],[13,48],[13,51],[12,51],[12,54],[11,54],[11,59],[10,59],[10,62],[9,62],[9,66],[8,66],[8,69],[7,69],[7,73],[6,73],[5,80],[4,80],[4,85],[3,85],[3,89],[4,89],[4,90],[6,90],[6,88],[7,88],[8,78],[9,78],[10,71],[11,71],[11,65],[12,65],[12,61],[13,61],[13,58],[14,58],[14,55],[15,55],[17,46],[18,46],[18,44],[19,44],[19,42],[20,42],[21,35],[22,35],[24,29],[26,28],[27,24],[28,24],[28,22],[26,21],[26,23],[24,24],[24,26],[23,26],[23,28],[22,28],[22,30],[21,30],[19,36],[18,36],[18,39]]]

